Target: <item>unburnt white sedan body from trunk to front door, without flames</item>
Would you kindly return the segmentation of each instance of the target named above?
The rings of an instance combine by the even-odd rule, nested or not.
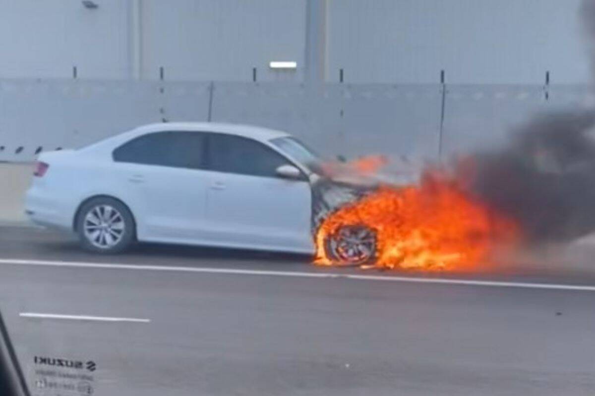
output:
[[[271,129],[146,125],[41,154],[26,213],[76,232],[93,252],[120,252],[138,240],[312,254],[313,207],[325,206],[313,202],[317,161]],[[335,206],[353,199],[336,195]]]

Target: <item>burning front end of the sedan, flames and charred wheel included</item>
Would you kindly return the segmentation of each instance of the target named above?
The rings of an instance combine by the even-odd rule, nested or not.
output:
[[[461,269],[518,236],[512,218],[473,197],[453,175],[426,169],[418,178],[373,188],[342,189],[334,181],[327,194],[334,198],[342,191],[344,199],[334,198],[335,210],[321,216],[317,264]]]

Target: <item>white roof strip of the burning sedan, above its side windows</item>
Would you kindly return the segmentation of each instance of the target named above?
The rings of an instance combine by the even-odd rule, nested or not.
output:
[[[258,141],[268,141],[274,138],[290,136],[287,132],[263,128],[254,125],[242,125],[223,122],[162,122],[139,126],[130,131],[133,135],[143,135],[158,131],[196,131],[214,132],[252,138]]]

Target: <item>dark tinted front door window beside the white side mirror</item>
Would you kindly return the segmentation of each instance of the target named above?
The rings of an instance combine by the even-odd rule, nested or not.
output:
[[[209,134],[208,145],[208,166],[217,172],[274,177],[277,167],[289,164],[270,147],[248,138]]]

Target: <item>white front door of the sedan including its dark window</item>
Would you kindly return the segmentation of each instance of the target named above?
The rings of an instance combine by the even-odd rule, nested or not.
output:
[[[312,252],[310,185],[305,175],[277,176],[284,164],[290,161],[261,142],[208,135],[206,218],[217,243]]]

